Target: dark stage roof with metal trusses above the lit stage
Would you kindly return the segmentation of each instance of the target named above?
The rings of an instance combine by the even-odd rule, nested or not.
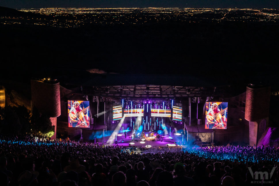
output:
[[[208,97],[223,93],[216,87],[226,87],[190,75],[83,74],[67,82],[83,95],[134,98]]]

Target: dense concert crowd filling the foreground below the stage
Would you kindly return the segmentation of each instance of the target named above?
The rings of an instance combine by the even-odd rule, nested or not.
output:
[[[0,185],[279,185],[279,150],[272,147],[164,147],[152,149],[153,153],[145,150],[1,136]],[[263,173],[255,176],[259,172]]]

